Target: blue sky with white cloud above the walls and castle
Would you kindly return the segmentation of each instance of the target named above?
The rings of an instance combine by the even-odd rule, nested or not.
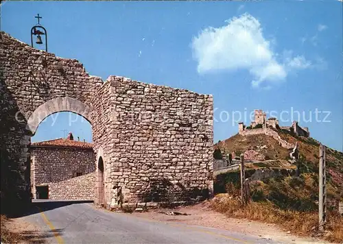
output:
[[[38,13],[49,51],[91,75],[212,94],[214,142],[250,121],[239,113],[263,109],[342,151],[342,1],[5,1],[1,30],[29,43]],[[32,141],[62,130],[91,141],[91,125],[67,112],[47,117]]]

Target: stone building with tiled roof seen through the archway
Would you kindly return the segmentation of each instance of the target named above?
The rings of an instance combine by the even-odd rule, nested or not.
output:
[[[68,143],[73,142],[73,143]],[[78,175],[95,172],[95,154],[93,145],[69,139],[56,139],[40,143],[32,143],[31,146],[31,186],[32,195],[36,195],[36,186],[47,185],[49,199],[90,199],[89,194],[84,193],[83,188],[94,188],[94,182],[71,181],[63,182]],[[52,184],[55,183],[55,184]],[[91,186],[87,186],[91,184]],[[62,191],[67,187],[69,194]],[[94,190],[93,190],[94,192]],[[94,195],[92,192],[92,196]],[[60,193],[61,195],[58,195]],[[75,193],[75,195],[73,195]]]

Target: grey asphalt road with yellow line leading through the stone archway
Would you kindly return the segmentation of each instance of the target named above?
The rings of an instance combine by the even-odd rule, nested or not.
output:
[[[87,202],[35,205],[25,220],[52,233],[47,243],[275,243],[237,232],[110,212]]]

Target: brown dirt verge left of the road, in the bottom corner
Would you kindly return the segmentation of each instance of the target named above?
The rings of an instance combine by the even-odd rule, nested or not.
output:
[[[23,219],[9,219],[1,215],[2,243],[45,243],[47,233]]]

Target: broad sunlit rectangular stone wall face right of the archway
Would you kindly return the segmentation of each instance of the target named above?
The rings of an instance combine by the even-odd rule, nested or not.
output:
[[[103,133],[111,133],[106,144],[112,146],[104,149],[105,164],[111,165],[110,175],[105,166],[105,178],[112,189],[120,186],[124,202],[160,202],[163,194],[156,188],[182,195],[180,201],[185,192],[211,194],[213,98],[123,77],[106,83],[112,116]],[[106,191],[106,204],[118,201],[116,191]]]

